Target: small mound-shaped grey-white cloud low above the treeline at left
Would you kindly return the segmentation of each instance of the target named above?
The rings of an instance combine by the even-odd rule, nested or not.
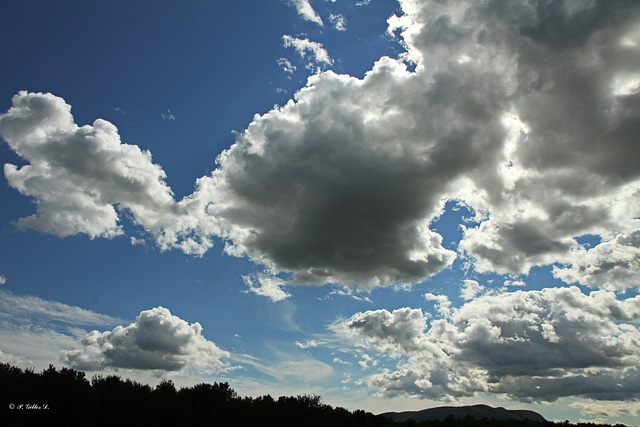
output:
[[[128,326],[92,331],[81,348],[62,353],[62,361],[89,371],[105,368],[206,370],[228,368],[230,355],[202,336],[199,323],[189,324],[163,307],[145,310]]]

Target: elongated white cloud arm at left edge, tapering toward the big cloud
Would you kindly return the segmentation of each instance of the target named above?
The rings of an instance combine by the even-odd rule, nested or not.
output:
[[[113,237],[123,233],[126,210],[162,249],[202,254],[212,246],[207,226],[174,200],[151,153],[123,144],[113,124],[78,126],[62,98],[23,91],[0,116],[0,135],[29,162],[4,165],[9,185],[36,201],[37,214],[19,219],[19,227]]]

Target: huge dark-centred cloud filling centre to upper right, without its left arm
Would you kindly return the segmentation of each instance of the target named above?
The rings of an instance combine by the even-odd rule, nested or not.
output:
[[[390,30],[415,72],[382,58],[363,80],[313,76],[200,181],[226,195],[209,209],[230,251],[371,287],[451,264],[429,229],[443,199],[483,220],[460,244],[479,272],[578,265],[577,237],[637,230],[637,4],[401,5]]]

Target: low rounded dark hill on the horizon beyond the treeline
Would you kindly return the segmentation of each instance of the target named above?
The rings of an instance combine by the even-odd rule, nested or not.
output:
[[[473,406],[440,406],[437,408],[424,409],[422,411],[406,411],[406,412],[385,412],[381,416],[392,421],[406,421],[413,419],[416,422],[421,421],[444,421],[448,416],[456,419],[462,419],[466,416],[472,416],[477,420],[483,418],[495,419],[498,421],[515,420],[515,421],[540,421],[546,422],[545,418],[537,412],[527,410],[510,410],[505,408],[493,408],[487,405]]]

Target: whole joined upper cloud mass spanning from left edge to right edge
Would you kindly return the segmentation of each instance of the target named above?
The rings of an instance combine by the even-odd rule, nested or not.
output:
[[[637,286],[640,5],[400,4],[401,60],[312,76],[181,201],[110,123],[78,127],[60,98],[18,94],[0,135],[29,164],[5,176],[37,214],[17,224],[111,237],[129,210],[162,249],[221,237],[293,283],[420,282],[462,256],[478,272],[560,263],[570,283]],[[445,200],[481,221],[458,253],[429,229]],[[585,234],[601,245],[581,248]]]

